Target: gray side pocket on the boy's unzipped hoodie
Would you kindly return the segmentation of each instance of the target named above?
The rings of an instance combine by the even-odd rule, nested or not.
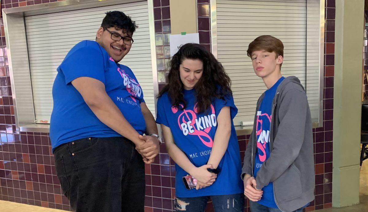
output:
[[[274,187],[277,202],[284,202],[301,196],[302,189],[300,178],[300,171],[294,164],[291,164],[291,166],[275,180]]]

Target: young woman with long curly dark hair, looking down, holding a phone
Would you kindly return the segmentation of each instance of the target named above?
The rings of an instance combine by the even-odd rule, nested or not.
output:
[[[238,110],[221,63],[199,44],[181,46],[171,59],[157,108],[156,122],[176,163],[175,209],[204,211],[211,199],[216,212],[243,211],[241,160],[232,121]],[[190,183],[197,183],[195,189],[183,181],[188,174]]]

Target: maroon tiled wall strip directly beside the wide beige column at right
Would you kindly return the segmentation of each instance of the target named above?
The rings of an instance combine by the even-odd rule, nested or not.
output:
[[[315,200],[305,209],[332,207],[333,76],[335,60],[335,0],[325,1],[325,64],[323,127],[313,129],[315,156]]]

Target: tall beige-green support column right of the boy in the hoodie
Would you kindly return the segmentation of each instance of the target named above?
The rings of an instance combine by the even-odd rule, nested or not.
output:
[[[364,0],[336,0],[332,206],[359,203]]]

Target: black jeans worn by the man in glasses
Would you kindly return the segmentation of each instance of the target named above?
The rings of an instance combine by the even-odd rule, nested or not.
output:
[[[78,139],[56,147],[54,155],[74,211],[144,211],[144,162],[130,140]]]

